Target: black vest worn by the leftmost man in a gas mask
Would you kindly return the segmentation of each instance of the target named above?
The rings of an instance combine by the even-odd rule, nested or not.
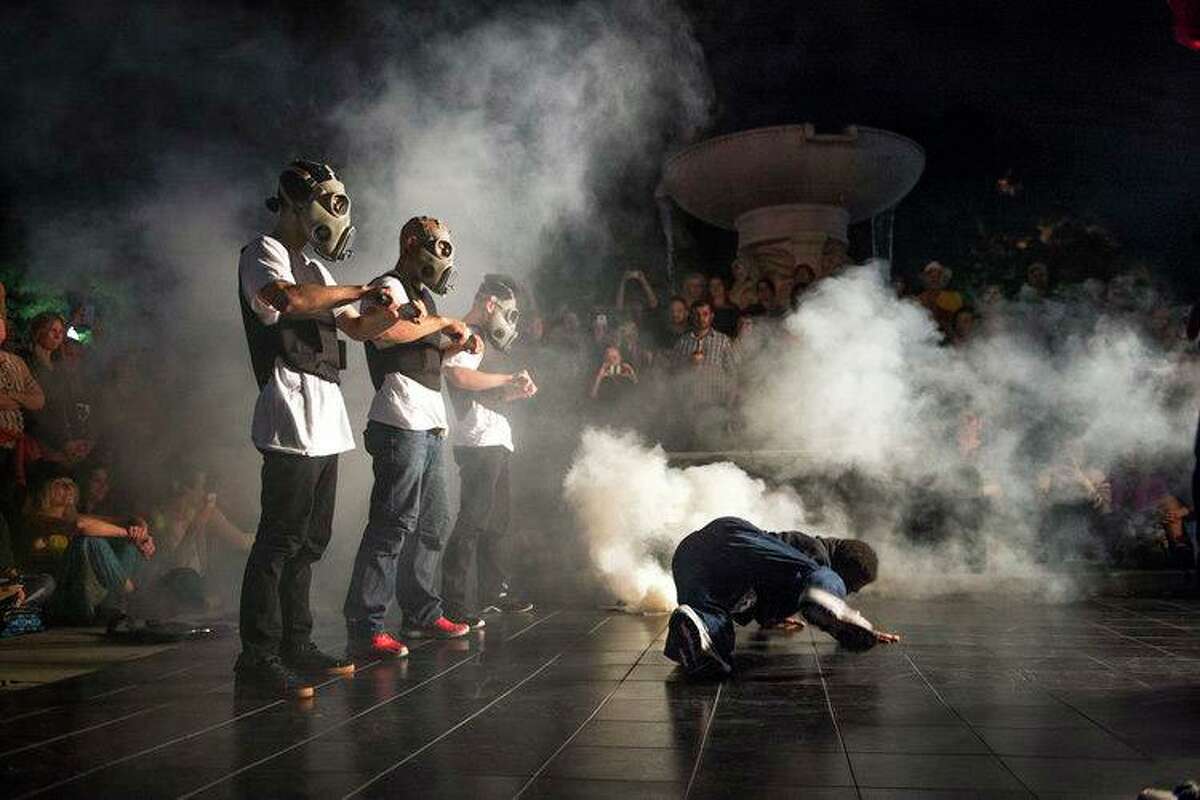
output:
[[[296,372],[317,375],[332,384],[341,383],[338,369],[346,368],[346,344],[337,338],[332,318],[288,319],[281,317],[274,325],[264,325],[251,309],[238,279],[238,300],[241,323],[250,345],[250,363],[262,389],[271,379],[275,359],[283,359]]]

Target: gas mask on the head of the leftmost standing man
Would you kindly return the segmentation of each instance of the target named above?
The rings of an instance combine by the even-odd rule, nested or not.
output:
[[[280,211],[284,205],[300,217],[305,236],[318,255],[341,261],[354,254],[350,198],[328,164],[312,161],[288,164],[280,175],[277,194],[266,200],[271,211]]]

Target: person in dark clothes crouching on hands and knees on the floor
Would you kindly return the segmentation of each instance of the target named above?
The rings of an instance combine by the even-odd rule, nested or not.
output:
[[[852,650],[899,642],[899,636],[876,631],[845,602],[851,585],[860,589],[874,576],[874,559],[858,565],[852,555],[854,551],[865,555],[868,549],[845,551],[846,558],[839,560],[847,571],[844,578],[780,535],[737,517],[714,519],[685,536],[671,561],[679,607],[671,614],[666,656],[691,674],[732,673],[733,622],[736,616],[749,621],[746,610],[762,625],[798,612]]]

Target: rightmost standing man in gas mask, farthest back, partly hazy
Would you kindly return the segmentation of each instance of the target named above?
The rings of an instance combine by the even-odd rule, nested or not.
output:
[[[443,365],[450,385],[455,428],[454,457],[462,480],[458,519],[442,565],[442,593],[446,615],[470,627],[482,627],[479,614],[467,606],[467,576],[476,564],[480,613],[523,613],[533,603],[509,589],[503,545],[509,530],[512,426],[505,407],[538,391],[524,369],[506,369],[506,354],[517,338],[516,281],[486,275],[463,321],[486,342],[485,353],[462,351]]]

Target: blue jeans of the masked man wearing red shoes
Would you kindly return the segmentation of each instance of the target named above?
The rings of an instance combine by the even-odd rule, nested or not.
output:
[[[392,597],[406,625],[431,625],[442,616],[434,583],[450,530],[445,435],[371,421],[364,438],[374,486],[343,607],[352,639],[384,630]]]

